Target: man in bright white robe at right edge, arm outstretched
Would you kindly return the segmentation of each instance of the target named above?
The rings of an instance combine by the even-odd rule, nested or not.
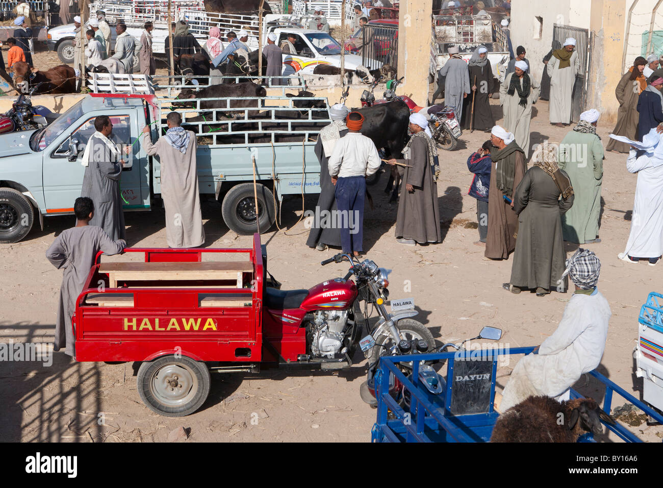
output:
[[[610,137],[631,144],[626,167],[638,173],[631,233],[618,257],[631,263],[648,260],[654,266],[663,254],[663,135],[654,128],[642,137],[642,142],[613,134]]]

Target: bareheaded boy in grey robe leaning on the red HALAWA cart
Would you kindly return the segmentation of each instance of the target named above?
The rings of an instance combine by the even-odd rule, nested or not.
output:
[[[58,318],[55,323],[55,343],[53,350],[74,356],[75,338],[72,330],[72,316],[76,311],[76,299],[83,291],[97,252],[109,256],[119,254],[127,246],[122,240],[112,240],[101,227],[90,225],[94,215],[94,204],[87,197],[79,197],[74,203],[76,226],[63,230],[46,250],[46,259],[53,266],[64,268]],[[94,284],[96,286],[96,284]]]

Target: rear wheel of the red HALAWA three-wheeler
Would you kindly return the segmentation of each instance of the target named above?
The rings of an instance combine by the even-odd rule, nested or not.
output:
[[[186,356],[163,356],[141,365],[137,386],[141,400],[153,412],[184,417],[196,412],[210,394],[210,370]]]

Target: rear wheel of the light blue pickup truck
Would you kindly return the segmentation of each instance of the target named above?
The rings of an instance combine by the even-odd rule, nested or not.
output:
[[[257,191],[260,232],[264,234],[276,220],[274,194],[260,183]],[[241,183],[228,191],[221,204],[221,216],[230,230],[241,236],[250,236],[257,231],[253,183]]]

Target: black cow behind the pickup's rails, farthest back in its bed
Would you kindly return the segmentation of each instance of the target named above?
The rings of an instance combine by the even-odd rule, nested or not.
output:
[[[267,90],[264,86],[257,85],[253,82],[243,82],[235,83],[231,85],[212,85],[206,88],[202,88],[197,92],[195,90],[190,90],[185,88],[178,95],[178,100],[188,100],[196,98],[238,98],[238,97],[256,97],[256,96],[267,96]],[[192,107],[192,104],[187,102],[172,102],[173,106],[180,107]],[[231,100],[230,108],[246,108],[246,107],[256,107],[259,108],[259,100]],[[206,100],[200,102],[200,110],[212,110],[219,108],[227,108],[226,100]],[[258,110],[249,111],[250,117],[255,117],[259,113]],[[217,111],[217,114],[223,114],[223,112]],[[244,118],[242,112],[231,111],[229,114],[230,118],[233,118],[234,114],[239,114],[239,118]]]

